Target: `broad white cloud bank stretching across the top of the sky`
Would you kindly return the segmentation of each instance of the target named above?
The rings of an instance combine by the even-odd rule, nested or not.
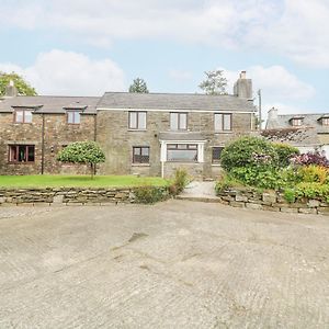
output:
[[[162,37],[257,48],[329,67],[328,0],[4,0],[0,21],[59,31],[100,47],[115,39]]]

